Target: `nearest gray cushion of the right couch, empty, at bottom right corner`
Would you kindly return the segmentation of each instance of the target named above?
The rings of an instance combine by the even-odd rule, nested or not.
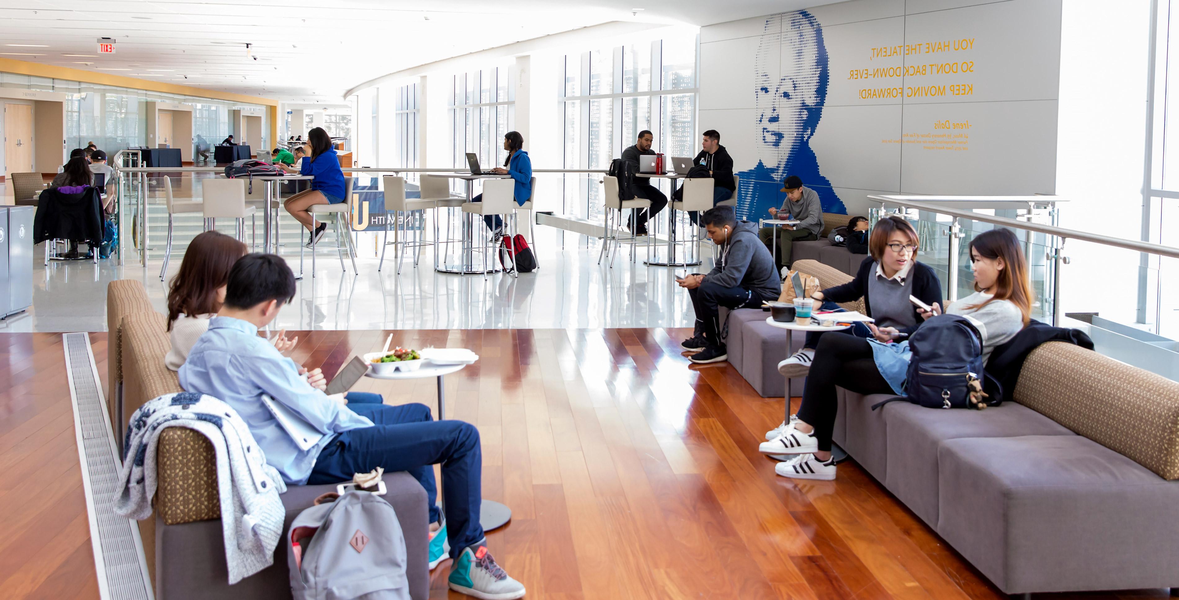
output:
[[[948,440],[937,461],[937,533],[1003,592],[1179,586],[1179,482],[1079,435]]]

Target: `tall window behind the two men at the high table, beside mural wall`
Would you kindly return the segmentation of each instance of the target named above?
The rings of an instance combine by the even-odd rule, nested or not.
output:
[[[607,169],[643,130],[668,159],[696,156],[696,48],[697,35],[686,34],[567,54],[565,167]],[[597,219],[600,194],[597,179],[566,176],[565,212]]]

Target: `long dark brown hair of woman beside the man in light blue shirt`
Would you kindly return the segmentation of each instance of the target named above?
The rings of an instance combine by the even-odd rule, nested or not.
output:
[[[180,315],[217,312],[217,289],[229,283],[233,263],[246,253],[245,244],[217,231],[192,238],[180,262],[180,271],[167,291],[167,329]]]

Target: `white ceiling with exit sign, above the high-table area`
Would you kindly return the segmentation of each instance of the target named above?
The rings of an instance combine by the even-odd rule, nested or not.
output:
[[[0,58],[338,104],[386,73],[607,21],[703,26],[823,4],[831,0],[0,0]],[[103,37],[117,40],[116,54],[97,55]]]

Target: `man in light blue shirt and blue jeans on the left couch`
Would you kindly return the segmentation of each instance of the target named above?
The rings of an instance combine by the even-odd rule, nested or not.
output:
[[[444,532],[435,538],[449,542],[449,556],[455,560],[449,587],[485,599],[523,596],[525,587],[487,552],[479,523],[479,430],[462,421],[434,421],[424,404],[356,404],[328,396],[322,380],[303,378],[299,365],[258,336],[258,329],[270,324],[295,292],[295,273],[283,258],[252,253],[238,259],[230,270],[220,310],[180,367],[180,387],[233,407],[266,462],[288,483],[338,483],[377,467],[408,472],[426,489],[430,520]],[[322,434],[318,443],[301,449],[262,403],[264,395]],[[444,522],[436,506],[433,466],[439,463],[446,483]],[[434,565],[441,560],[432,556]]]

